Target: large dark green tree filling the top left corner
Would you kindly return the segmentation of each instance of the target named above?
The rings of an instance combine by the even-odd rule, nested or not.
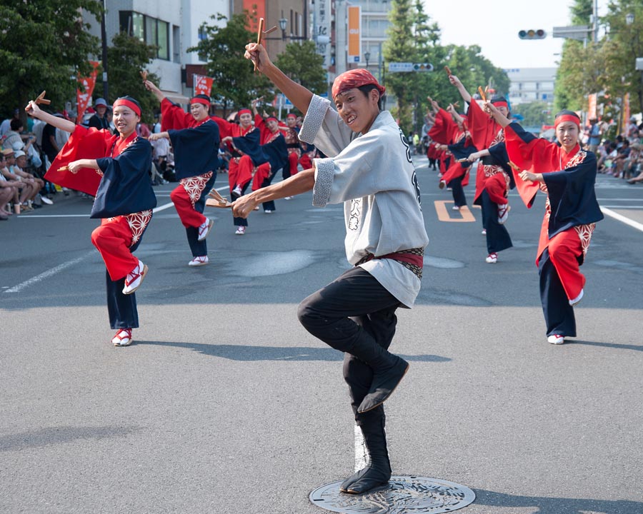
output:
[[[0,105],[25,106],[47,91],[52,109],[76,95],[76,74],[88,75],[99,40],[79,17],[98,19],[97,0],[0,0]]]

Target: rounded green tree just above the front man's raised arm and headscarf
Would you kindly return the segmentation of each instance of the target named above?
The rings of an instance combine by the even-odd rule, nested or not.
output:
[[[313,93],[326,93],[328,79],[323,67],[324,57],[317,54],[313,41],[287,44],[286,51],[276,57],[275,64],[284,74]]]

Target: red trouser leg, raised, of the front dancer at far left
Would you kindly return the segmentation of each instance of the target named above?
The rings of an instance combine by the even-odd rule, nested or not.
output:
[[[91,243],[96,246],[105,262],[109,278],[113,281],[127,276],[139,264],[139,259],[129,251],[134,235],[125,216],[106,218],[91,233]]]

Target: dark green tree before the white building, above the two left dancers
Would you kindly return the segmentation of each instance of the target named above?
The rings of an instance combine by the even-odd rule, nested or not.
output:
[[[159,109],[159,101],[145,89],[141,71],[156,56],[156,47],[146,45],[143,41],[121,32],[112,39],[112,46],[107,49],[107,67],[109,69],[109,94],[114,101],[119,96],[133,96],[141,104],[141,119],[145,123],[153,121],[154,109]],[[101,77],[101,74],[98,75]],[[159,77],[148,74],[147,78],[159,84]],[[96,81],[94,91],[102,91],[102,79]]]

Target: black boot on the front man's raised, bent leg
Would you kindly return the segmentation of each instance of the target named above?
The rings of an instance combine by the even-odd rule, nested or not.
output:
[[[369,392],[357,408],[360,414],[382,405],[409,370],[407,361],[384,350],[371,337],[359,338],[348,352],[367,363],[373,370]]]

